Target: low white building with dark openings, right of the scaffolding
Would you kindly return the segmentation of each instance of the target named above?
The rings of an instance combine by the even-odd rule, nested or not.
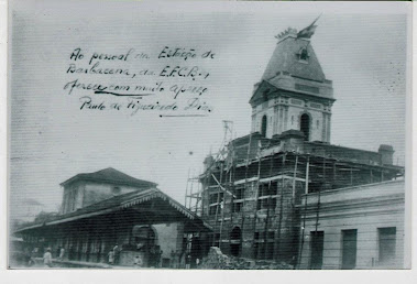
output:
[[[309,193],[298,207],[299,269],[404,269],[404,181]]]

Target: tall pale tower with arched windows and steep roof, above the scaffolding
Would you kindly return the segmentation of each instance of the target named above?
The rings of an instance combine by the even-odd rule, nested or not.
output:
[[[299,130],[306,141],[330,143],[332,81],[326,79],[310,39],[316,25],[288,28],[250,100],[252,130],[265,138]]]

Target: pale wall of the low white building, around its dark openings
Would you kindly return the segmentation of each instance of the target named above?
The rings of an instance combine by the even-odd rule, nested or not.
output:
[[[322,269],[341,269],[343,259],[342,230],[356,230],[356,264],[354,269],[403,269],[404,266],[404,181],[348,187],[307,196],[307,214],[303,197],[299,269],[310,269],[311,232],[323,231]],[[380,262],[378,229],[395,228],[395,255]],[[304,239],[304,241],[303,241]]]

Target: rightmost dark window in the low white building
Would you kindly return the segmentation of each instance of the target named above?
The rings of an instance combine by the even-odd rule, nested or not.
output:
[[[378,265],[393,264],[395,260],[396,228],[378,228],[380,256]]]

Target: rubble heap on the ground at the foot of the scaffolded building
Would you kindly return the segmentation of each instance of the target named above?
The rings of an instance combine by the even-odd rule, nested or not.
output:
[[[217,247],[211,247],[208,255],[202,259],[199,269],[206,270],[293,270],[294,266],[285,262],[252,260],[228,256]]]

